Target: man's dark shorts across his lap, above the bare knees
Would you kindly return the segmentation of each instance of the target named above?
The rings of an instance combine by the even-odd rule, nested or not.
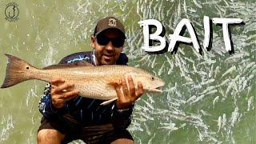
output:
[[[81,126],[78,124],[65,122],[59,118],[45,118],[42,117],[41,126],[42,129],[58,130],[60,133],[65,134],[65,138],[62,143],[72,142],[76,139],[81,139],[86,144],[90,143],[110,143],[119,138],[127,138],[133,140],[128,130],[117,130],[111,123],[95,126]]]

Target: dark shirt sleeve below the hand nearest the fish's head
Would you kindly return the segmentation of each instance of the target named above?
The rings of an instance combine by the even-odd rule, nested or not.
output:
[[[116,129],[126,129],[131,122],[131,115],[134,110],[134,103],[127,110],[118,110],[114,104],[112,122]]]

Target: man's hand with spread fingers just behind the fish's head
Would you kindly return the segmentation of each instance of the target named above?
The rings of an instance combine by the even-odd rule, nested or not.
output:
[[[134,80],[131,78],[131,76],[128,76],[128,84],[129,90],[126,84],[126,79],[122,77],[121,82],[114,85],[114,89],[118,94],[118,101],[116,102],[118,109],[129,108],[133,102],[142,96],[144,92],[142,82],[138,82],[138,90],[135,90]]]

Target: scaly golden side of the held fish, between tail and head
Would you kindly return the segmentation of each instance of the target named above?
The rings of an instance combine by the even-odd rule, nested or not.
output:
[[[73,82],[74,89],[79,90],[80,95],[107,100],[116,98],[114,87],[107,84],[118,82],[122,75],[133,73],[131,70],[133,68],[128,66],[79,66],[68,69],[43,70],[44,72],[36,75],[35,78],[46,82],[50,82],[52,78],[63,78],[68,82]],[[106,71],[109,73],[106,74]]]

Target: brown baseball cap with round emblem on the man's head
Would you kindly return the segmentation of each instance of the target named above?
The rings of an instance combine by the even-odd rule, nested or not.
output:
[[[116,29],[120,32],[120,34],[122,34],[123,38],[126,38],[125,28],[122,25],[122,22],[120,22],[118,18],[114,17],[106,17],[100,19],[94,29],[94,36],[107,29]]]

